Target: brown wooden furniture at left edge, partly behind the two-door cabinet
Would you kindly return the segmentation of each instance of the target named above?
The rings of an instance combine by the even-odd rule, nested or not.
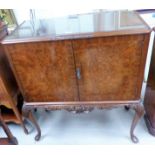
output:
[[[7,35],[7,26],[0,26],[0,41]],[[4,49],[0,43],[0,108],[5,122],[21,124],[27,132],[22,115],[18,110],[19,89],[10,68]],[[2,107],[3,106],[3,107]]]

